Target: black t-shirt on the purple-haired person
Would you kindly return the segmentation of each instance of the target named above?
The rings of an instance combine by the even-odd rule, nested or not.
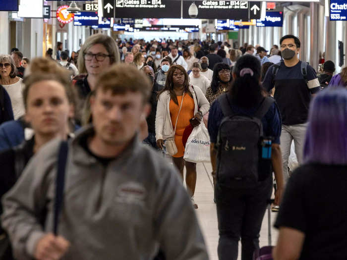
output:
[[[290,176],[275,227],[305,233],[300,259],[347,258],[347,165],[307,164]]]

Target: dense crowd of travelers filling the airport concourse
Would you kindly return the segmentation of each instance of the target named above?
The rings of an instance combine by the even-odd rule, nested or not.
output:
[[[271,259],[346,259],[347,67],[317,74],[300,44],[94,34],[0,54],[0,260],[207,260],[206,149],[220,260],[239,240],[253,259],[272,195]]]

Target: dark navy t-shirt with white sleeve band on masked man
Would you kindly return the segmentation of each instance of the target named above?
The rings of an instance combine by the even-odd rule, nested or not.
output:
[[[285,125],[306,123],[311,94],[319,91],[319,81],[315,70],[307,65],[307,83],[301,71],[301,61],[295,66],[287,67],[281,62],[274,78],[272,65],[263,81],[263,87],[271,91],[274,87],[275,100],[280,107],[282,122]]]

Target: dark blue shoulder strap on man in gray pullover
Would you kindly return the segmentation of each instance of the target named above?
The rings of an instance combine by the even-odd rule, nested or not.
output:
[[[67,141],[62,141],[59,147],[58,153],[58,168],[57,168],[57,179],[56,179],[56,197],[54,204],[54,234],[58,234],[58,217],[61,210],[61,204],[63,201],[64,183],[65,183],[65,168],[68,152]]]

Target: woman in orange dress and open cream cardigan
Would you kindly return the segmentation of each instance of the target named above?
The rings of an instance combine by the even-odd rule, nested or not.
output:
[[[164,140],[174,137],[177,153],[172,155],[173,163],[178,168],[182,180],[184,165],[186,168],[185,183],[191,196],[194,208],[194,192],[196,185],[196,163],[185,161],[183,132],[192,125],[200,124],[210,104],[199,87],[189,84],[189,76],[180,65],[171,66],[168,71],[165,88],[158,94],[159,100],[156,114],[156,140],[160,149],[164,148]]]

